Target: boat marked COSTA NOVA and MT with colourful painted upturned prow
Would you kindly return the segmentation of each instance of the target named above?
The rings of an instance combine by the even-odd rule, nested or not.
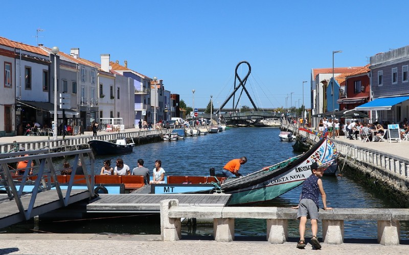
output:
[[[190,176],[180,176],[185,177],[188,182],[179,182],[180,185],[177,186],[177,189],[174,183],[153,184],[151,185],[151,193],[222,192],[232,194],[229,205],[259,203],[274,199],[301,185],[311,175],[311,164],[313,162],[328,167],[336,160],[336,156],[335,145],[327,138],[323,138],[304,154],[244,176],[212,183],[206,183],[203,179],[201,179],[200,183],[193,183],[189,182]],[[170,180],[169,177],[168,180]],[[202,176],[202,178],[204,177],[206,176]],[[207,185],[203,186],[205,183]],[[211,184],[213,187],[211,187]]]

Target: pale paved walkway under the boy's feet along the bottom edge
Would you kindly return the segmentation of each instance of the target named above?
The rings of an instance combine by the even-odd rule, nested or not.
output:
[[[0,234],[0,254],[407,254],[407,244],[311,244],[296,248],[296,242],[179,240],[162,242],[160,235],[98,234]],[[318,252],[318,253],[317,253]]]

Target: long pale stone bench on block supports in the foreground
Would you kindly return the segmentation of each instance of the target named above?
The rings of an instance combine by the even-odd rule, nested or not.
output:
[[[234,219],[266,219],[267,241],[284,243],[288,237],[288,219],[297,218],[297,210],[277,207],[179,207],[177,199],[161,201],[161,235],[164,241],[181,238],[180,218],[213,219],[214,239],[218,242],[234,240]],[[344,242],[344,220],[378,222],[378,243],[399,244],[400,220],[409,220],[409,209],[336,208],[320,210],[323,241],[329,244]]]

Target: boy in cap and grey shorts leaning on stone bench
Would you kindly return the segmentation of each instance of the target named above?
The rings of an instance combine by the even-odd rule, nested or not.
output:
[[[303,188],[301,190],[300,202],[297,207],[292,209],[298,209],[297,219],[300,220],[300,241],[297,243],[297,248],[304,249],[305,247],[305,224],[307,219],[311,219],[311,245],[315,249],[321,249],[321,244],[316,238],[318,232],[317,220],[319,220],[319,195],[323,201],[324,210],[332,210],[331,207],[327,207],[327,195],[323,188],[323,182],[321,177],[324,174],[325,168],[319,166],[316,162],[311,164],[312,174],[304,181]]]

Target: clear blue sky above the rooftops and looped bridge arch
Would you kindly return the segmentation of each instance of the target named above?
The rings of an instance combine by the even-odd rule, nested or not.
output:
[[[0,35],[58,46],[100,62],[110,54],[192,106],[217,108],[234,70],[252,66],[246,88],[260,108],[309,107],[311,68],[364,66],[367,57],[408,45],[408,1],[6,1]],[[243,68],[241,72],[246,73]],[[294,103],[296,102],[297,103]],[[288,105],[289,105],[288,99]],[[230,107],[232,104],[229,103]],[[244,96],[241,105],[251,106]]]

